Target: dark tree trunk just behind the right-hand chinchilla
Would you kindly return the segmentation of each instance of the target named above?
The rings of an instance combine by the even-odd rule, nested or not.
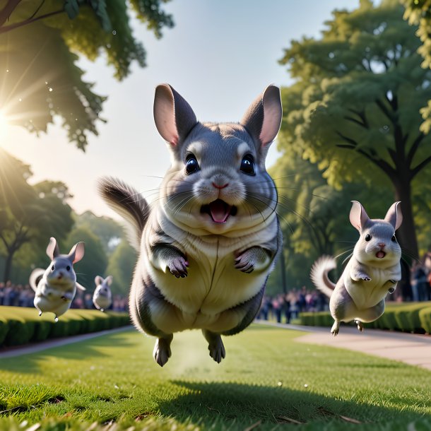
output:
[[[413,220],[413,206],[411,201],[411,182],[397,179],[394,182],[395,199],[401,201],[401,211],[403,213],[403,223],[398,229],[397,239],[406,255],[408,264],[412,264],[413,259],[418,259],[418,240],[416,239],[415,222]]]

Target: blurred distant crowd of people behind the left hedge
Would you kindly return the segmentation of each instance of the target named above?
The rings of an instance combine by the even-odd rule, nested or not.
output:
[[[34,307],[35,292],[29,284],[13,284],[11,281],[0,282],[0,305],[13,305],[15,307]],[[127,298],[122,295],[113,295],[110,309],[116,312],[127,311]],[[95,309],[93,295],[81,290],[76,292],[71,308]]]

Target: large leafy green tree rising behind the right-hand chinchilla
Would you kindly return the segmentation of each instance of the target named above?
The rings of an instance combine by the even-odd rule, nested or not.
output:
[[[420,67],[416,28],[396,0],[334,11],[319,40],[293,41],[281,64],[296,82],[283,88],[281,148],[298,146],[329,184],[389,180],[401,201],[400,242],[418,242],[413,194],[429,181],[431,137],[420,130],[420,107],[431,98],[431,71]]]

